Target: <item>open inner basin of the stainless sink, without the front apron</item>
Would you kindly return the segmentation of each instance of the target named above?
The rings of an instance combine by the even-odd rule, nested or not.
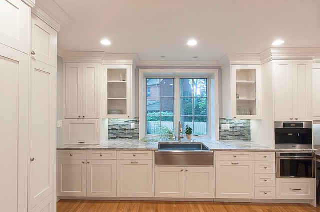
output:
[[[202,143],[159,143],[159,151],[210,151]]]

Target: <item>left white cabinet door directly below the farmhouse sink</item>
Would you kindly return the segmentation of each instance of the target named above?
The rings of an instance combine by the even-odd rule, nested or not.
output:
[[[183,167],[154,167],[154,197],[184,197]]]

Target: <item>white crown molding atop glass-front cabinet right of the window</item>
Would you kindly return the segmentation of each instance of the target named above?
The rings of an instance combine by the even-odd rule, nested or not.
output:
[[[218,62],[222,69],[228,65],[261,64],[259,54],[226,54]]]

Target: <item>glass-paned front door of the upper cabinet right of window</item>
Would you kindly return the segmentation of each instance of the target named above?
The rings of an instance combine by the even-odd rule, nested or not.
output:
[[[233,118],[261,118],[260,73],[260,65],[231,66],[231,102]]]

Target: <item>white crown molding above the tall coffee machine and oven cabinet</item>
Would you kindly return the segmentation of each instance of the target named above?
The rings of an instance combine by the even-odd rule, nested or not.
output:
[[[261,63],[271,60],[313,60],[320,54],[320,48],[269,48],[261,52]]]

